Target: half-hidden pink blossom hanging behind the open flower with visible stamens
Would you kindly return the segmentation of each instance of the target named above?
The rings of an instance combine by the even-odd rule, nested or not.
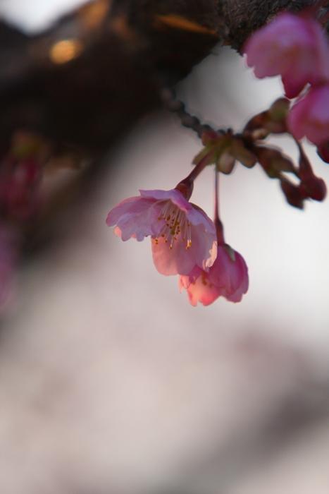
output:
[[[195,267],[190,275],[180,276],[180,291],[183,288],[192,306],[198,302],[209,306],[219,296],[231,302],[240,302],[249,285],[248,268],[238,252],[226,244],[218,245],[215,263],[208,272]]]

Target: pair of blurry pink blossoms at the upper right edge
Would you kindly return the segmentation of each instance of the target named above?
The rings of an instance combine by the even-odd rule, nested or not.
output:
[[[306,136],[329,161],[329,44],[309,16],[280,14],[255,32],[244,47],[258,78],[281,76],[285,95],[297,101],[287,116],[297,140]]]

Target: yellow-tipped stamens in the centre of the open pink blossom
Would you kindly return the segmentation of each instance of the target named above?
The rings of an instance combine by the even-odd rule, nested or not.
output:
[[[175,241],[186,242],[186,248],[190,248],[192,246],[191,224],[187,220],[186,213],[171,201],[168,201],[163,206],[158,221],[163,219],[165,224],[163,224],[159,236],[165,239],[169,248],[173,248]],[[159,236],[154,239],[156,244],[159,243]]]

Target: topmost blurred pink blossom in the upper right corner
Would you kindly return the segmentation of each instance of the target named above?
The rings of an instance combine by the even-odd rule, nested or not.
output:
[[[328,42],[316,20],[290,13],[256,31],[244,48],[255,76],[282,76],[285,94],[296,97],[307,83],[329,80]]]

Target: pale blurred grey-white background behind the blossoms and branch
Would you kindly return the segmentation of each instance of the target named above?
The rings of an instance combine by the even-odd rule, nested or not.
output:
[[[79,3],[1,0],[0,14],[35,32]],[[202,121],[236,130],[282,95],[228,48],[177,89]],[[106,227],[139,188],[173,188],[199,147],[175,116],[144,116],[17,273],[0,335],[1,494],[328,494],[328,200],[294,210],[260,167],[223,176],[250,287],[208,308],[156,272],[147,239]],[[192,199],[212,214],[211,169]]]

